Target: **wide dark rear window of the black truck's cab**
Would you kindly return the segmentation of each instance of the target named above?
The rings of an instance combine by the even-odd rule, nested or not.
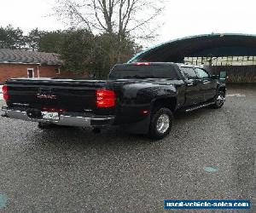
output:
[[[171,78],[177,79],[175,66],[172,65],[116,65],[109,79],[126,78]]]

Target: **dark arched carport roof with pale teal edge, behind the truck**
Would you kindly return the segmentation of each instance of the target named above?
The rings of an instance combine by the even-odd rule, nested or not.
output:
[[[135,55],[129,62],[183,62],[184,57],[256,55],[256,35],[217,33],[183,37]]]

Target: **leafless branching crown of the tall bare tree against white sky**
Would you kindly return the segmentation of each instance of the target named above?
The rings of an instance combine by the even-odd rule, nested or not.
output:
[[[56,0],[56,14],[69,26],[86,27],[93,34],[107,32],[118,36],[152,39],[159,25],[152,21],[164,9],[163,0]],[[121,46],[121,45],[120,45]]]

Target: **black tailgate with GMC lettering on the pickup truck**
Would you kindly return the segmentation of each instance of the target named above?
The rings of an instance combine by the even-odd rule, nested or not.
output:
[[[26,79],[7,81],[8,106],[26,106],[42,109],[53,107],[69,112],[94,112],[96,89],[104,88],[106,81],[72,79]]]

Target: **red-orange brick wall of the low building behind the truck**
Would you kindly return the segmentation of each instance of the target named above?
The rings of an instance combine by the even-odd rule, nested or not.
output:
[[[68,72],[61,69],[61,74],[57,74],[55,69],[59,66],[38,66],[38,65],[26,65],[26,64],[0,64],[0,84],[3,84],[8,78],[27,78],[27,69],[33,68],[34,78],[73,78],[76,75],[73,72]]]

